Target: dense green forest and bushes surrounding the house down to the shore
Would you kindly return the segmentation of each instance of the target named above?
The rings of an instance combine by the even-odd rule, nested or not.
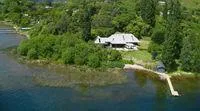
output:
[[[115,32],[151,37],[168,71],[200,72],[199,0],[3,0],[0,20],[31,27],[17,52],[28,59],[50,59],[90,67],[121,67],[119,51],[93,44]]]

